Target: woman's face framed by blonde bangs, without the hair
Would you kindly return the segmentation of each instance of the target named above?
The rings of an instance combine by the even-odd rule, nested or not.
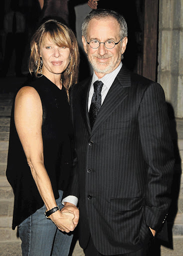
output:
[[[64,46],[57,46],[49,36],[46,36],[40,47],[40,57],[42,57],[44,75],[61,74],[69,64],[70,50]]]

